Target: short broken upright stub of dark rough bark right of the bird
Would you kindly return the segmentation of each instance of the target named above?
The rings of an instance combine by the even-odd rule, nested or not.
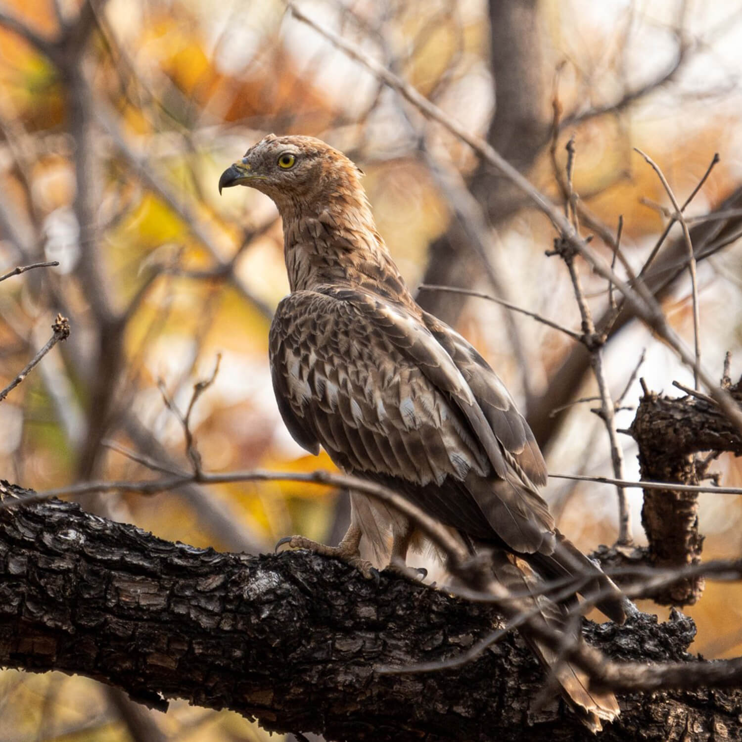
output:
[[[729,388],[742,400],[740,385]],[[702,451],[742,454],[739,431],[713,401],[645,393],[631,435],[639,447],[642,479],[697,485],[704,467]],[[677,490],[644,490],[642,524],[649,540],[649,561],[659,567],[700,562],[703,536],[698,532],[698,496]],[[703,577],[689,578],[653,595],[663,605],[692,605],[703,592]]]

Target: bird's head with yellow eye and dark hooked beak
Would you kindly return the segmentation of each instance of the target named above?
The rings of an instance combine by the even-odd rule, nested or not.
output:
[[[332,194],[355,193],[361,170],[344,154],[314,137],[260,139],[227,168],[219,192],[232,185],[249,185],[284,206],[311,203],[320,208]]]

